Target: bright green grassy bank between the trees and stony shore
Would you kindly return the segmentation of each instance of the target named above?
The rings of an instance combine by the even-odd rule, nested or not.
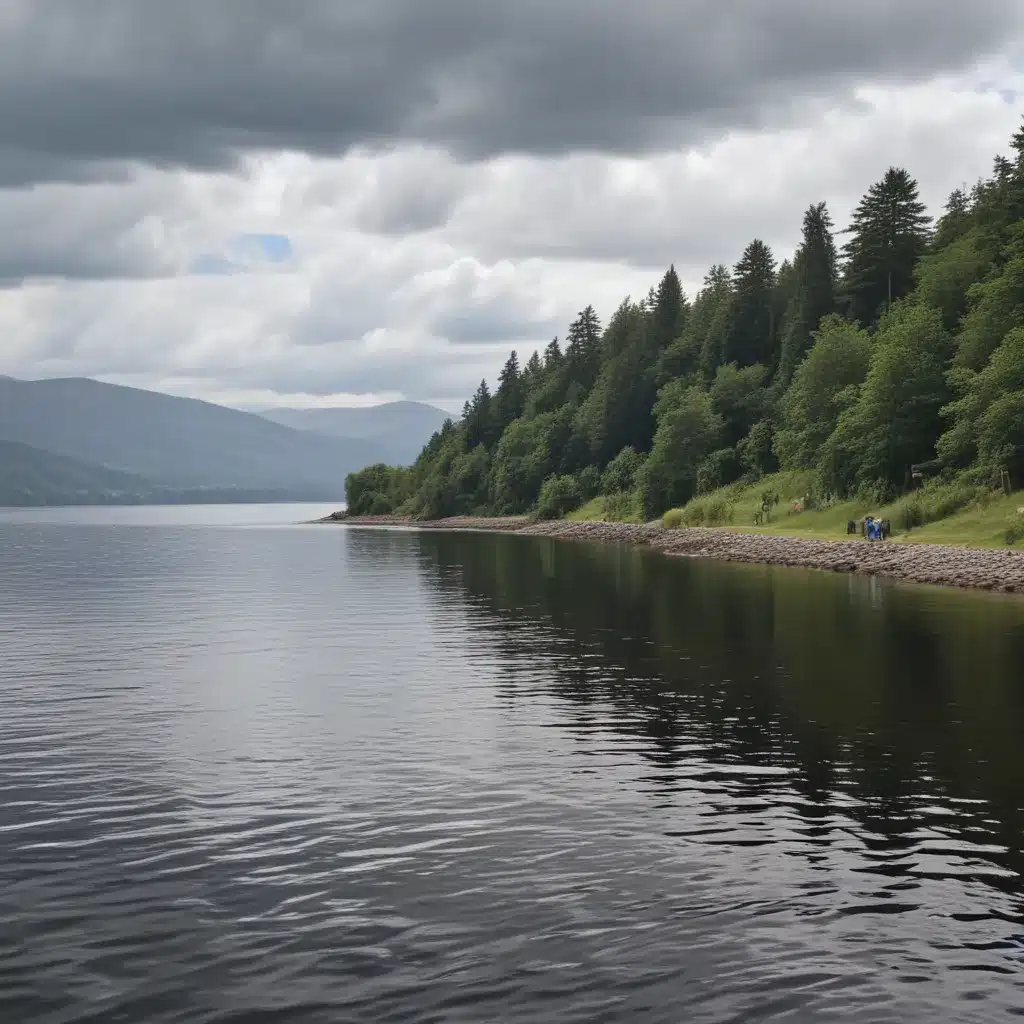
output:
[[[843,540],[850,519],[872,515],[891,522],[897,543],[1024,548],[1024,492],[1008,496],[961,481],[933,482],[894,502],[871,505],[815,501],[813,484],[810,473],[776,473],[752,485],[732,484],[666,513],[666,524]],[[777,496],[778,504],[757,524],[766,495]]]

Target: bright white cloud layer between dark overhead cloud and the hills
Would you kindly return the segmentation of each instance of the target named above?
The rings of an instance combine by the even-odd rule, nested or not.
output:
[[[458,164],[417,143],[0,190],[0,266],[62,275],[0,290],[0,373],[239,404],[410,396],[455,411],[510,348],[543,347],[588,303],[607,317],[670,261],[692,291],[755,236],[788,255],[812,202],[843,226],[890,164],[938,213],[1006,151],[1010,95],[1024,76],[992,60],[864,84],[856,102],[817,100],[785,130],[648,157]],[[258,234],[286,238],[287,259],[239,242]],[[238,272],[189,272],[204,259]]]

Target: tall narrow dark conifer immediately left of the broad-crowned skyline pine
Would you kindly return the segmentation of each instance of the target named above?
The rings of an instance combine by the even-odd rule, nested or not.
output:
[[[778,378],[793,379],[821,321],[836,309],[837,253],[833,221],[824,203],[804,214],[804,234],[794,257],[795,291],[785,310]]]

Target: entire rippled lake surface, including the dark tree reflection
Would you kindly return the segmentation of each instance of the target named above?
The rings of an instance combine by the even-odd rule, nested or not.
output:
[[[1024,1015],[1024,601],[288,516],[0,512],[0,1021]]]

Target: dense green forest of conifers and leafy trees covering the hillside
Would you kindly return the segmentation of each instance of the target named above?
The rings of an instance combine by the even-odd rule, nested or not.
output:
[[[779,469],[890,499],[912,466],[1024,482],[1024,129],[933,219],[910,174],[867,190],[837,245],[824,203],[792,261],[754,239],[692,299],[675,268],[602,326],[588,306],[513,352],[411,467],[346,480],[352,514],[557,517],[604,496],[652,518]]]

